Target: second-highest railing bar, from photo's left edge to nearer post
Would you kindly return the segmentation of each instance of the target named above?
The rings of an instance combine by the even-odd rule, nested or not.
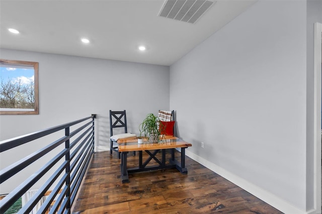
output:
[[[5,182],[8,180],[10,177],[15,175],[16,173],[20,172],[22,169],[26,168],[29,166],[31,163],[34,161],[38,160],[40,157],[44,156],[66,140],[68,140],[69,137],[65,136],[60,138],[59,140],[49,144],[48,146],[28,155],[27,157],[17,161],[16,163],[13,163],[12,165],[0,170],[0,183]]]

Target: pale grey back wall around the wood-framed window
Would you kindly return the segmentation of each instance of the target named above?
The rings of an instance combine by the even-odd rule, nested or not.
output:
[[[39,62],[39,115],[1,115],[0,140],[97,114],[97,144],[109,150],[109,110],[126,110],[128,132],[139,134],[148,113],[169,109],[168,66],[8,49],[1,49],[1,58]],[[14,155],[2,153],[1,168],[56,139],[15,149]],[[16,179],[13,182],[20,183]],[[4,183],[0,194],[10,189],[12,185]]]

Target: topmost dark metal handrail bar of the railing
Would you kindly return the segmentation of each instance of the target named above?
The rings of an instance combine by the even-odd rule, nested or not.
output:
[[[31,134],[22,135],[22,136],[19,136],[19,137],[16,137],[16,138],[11,138],[11,139],[8,139],[8,140],[5,140],[5,141],[1,141],[0,142],[0,152],[7,151],[7,150],[12,149],[14,147],[23,145],[23,144],[28,143],[30,141],[33,141],[33,140],[36,140],[38,138],[44,137],[46,135],[52,134],[54,132],[60,131],[62,129],[65,129],[67,127],[70,127],[70,126],[73,126],[75,124],[81,123],[81,122],[86,121],[86,120],[91,119],[91,118],[95,118],[95,115],[92,115],[90,117],[83,118],[83,119],[80,119],[80,120],[77,120],[77,121],[74,121],[74,122],[66,123],[66,124],[63,124],[63,125],[60,125],[60,126],[45,129],[45,130],[42,130],[42,131],[33,132]]]

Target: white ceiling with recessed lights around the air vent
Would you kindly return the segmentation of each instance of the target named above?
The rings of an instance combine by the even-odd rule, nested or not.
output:
[[[0,47],[171,65],[256,0],[217,1],[195,24],[159,17],[164,2],[0,0]]]

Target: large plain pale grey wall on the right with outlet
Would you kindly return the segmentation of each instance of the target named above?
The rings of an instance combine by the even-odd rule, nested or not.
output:
[[[305,211],[306,2],[259,1],[172,65],[170,108],[187,154]]]

